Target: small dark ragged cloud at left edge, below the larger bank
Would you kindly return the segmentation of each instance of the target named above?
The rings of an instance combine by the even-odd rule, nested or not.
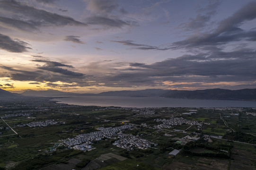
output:
[[[20,40],[13,40],[7,35],[0,34],[0,49],[6,50],[9,52],[25,52],[27,49],[31,49],[26,47],[28,43],[20,41]]]

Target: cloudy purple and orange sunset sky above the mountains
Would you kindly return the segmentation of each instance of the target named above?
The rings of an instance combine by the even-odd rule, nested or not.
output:
[[[256,0],[0,0],[0,88],[256,88]]]

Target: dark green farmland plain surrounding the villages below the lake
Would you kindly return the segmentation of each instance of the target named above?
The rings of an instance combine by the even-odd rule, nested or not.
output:
[[[117,108],[56,103],[52,98],[1,101],[0,167],[9,170],[255,170],[256,112],[253,108]],[[193,114],[182,114],[196,110]],[[138,114],[138,113],[143,114]],[[235,113],[235,114],[234,114]],[[180,121],[168,127],[156,119]],[[18,125],[45,120],[64,122],[44,127]],[[191,124],[194,123],[194,124]],[[98,132],[99,127],[131,125],[121,134],[92,141],[91,149],[72,149],[63,141]],[[158,125],[158,126],[157,126]],[[160,126],[160,128],[159,128]],[[114,145],[120,136],[147,140],[147,149],[132,150]],[[171,151],[180,151],[169,155]],[[236,168],[238,167],[238,168]]]

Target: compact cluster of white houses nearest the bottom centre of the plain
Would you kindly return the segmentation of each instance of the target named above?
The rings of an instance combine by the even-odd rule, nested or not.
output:
[[[133,135],[120,134],[118,138],[120,139],[115,141],[115,143],[113,144],[117,147],[121,147],[127,150],[133,150],[134,147],[137,147],[139,149],[147,149],[152,145],[157,145],[146,139],[141,139],[140,137]]]

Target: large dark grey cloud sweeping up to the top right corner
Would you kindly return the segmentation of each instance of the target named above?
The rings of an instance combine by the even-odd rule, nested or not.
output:
[[[235,12],[231,17],[223,19],[219,26],[210,34],[196,34],[179,42],[174,42],[176,48],[194,48],[205,45],[220,45],[241,40],[255,41],[256,30],[239,28],[245,21],[256,18],[256,2],[250,2]]]

